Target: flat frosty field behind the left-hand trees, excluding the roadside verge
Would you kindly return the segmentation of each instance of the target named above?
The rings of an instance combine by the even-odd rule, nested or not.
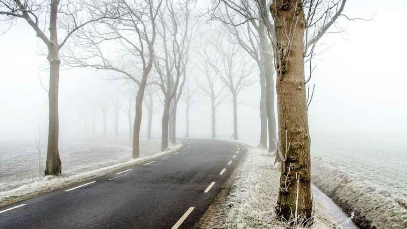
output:
[[[160,152],[159,140],[140,140],[142,156]],[[62,174],[75,174],[127,162],[131,157],[131,140],[86,139],[61,143],[59,153]],[[44,169],[46,146],[42,146]],[[0,145],[0,192],[11,190],[39,179],[38,151],[35,143]]]

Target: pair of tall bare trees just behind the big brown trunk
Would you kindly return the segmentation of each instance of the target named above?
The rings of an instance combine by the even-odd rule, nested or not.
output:
[[[267,31],[271,31],[271,23],[268,20],[267,2],[269,0],[214,0],[207,14],[210,20],[218,20],[229,26],[230,32],[236,36],[239,44],[258,63],[260,70],[260,146],[265,144],[265,109],[267,110],[269,152],[276,149],[274,142],[276,135],[276,117],[274,114],[274,68],[272,63],[273,52],[270,46],[271,37]],[[230,12],[232,10],[232,12]],[[243,27],[244,33],[239,33],[238,28]],[[246,31],[247,29],[247,31]],[[258,37],[258,49],[256,46]],[[256,52],[260,52],[257,56]]]

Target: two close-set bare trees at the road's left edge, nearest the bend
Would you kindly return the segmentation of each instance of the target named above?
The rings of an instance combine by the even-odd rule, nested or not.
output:
[[[156,84],[160,86],[164,94],[164,111],[161,123],[162,151],[168,148],[168,120],[172,102],[171,141],[175,143],[177,103],[185,83],[185,77],[182,79],[181,85],[179,85],[179,81],[188,62],[189,40],[192,34],[189,29],[190,4],[189,0],[177,3],[166,0],[166,7],[159,14],[162,25],[162,29],[159,31],[162,38],[162,57],[155,62],[155,69],[160,76],[160,80]]]

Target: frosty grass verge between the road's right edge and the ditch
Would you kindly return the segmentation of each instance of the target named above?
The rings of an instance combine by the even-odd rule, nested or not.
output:
[[[267,153],[267,150],[249,149],[225,202],[211,219],[209,228],[287,227],[287,222],[277,220],[274,213],[280,169],[279,166],[273,166],[273,163],[274,157]],[[335,220],[319,200],[315,200],[314,206],[315,223],[311,228],[338,226],[331,223]]]

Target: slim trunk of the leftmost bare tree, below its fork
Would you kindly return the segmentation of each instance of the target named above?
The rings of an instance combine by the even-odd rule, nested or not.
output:
[[[57,50],[50,50],[50,53],[48,54],[48,61],[50,65],[50,85],[48,93],[49,125],[48,125],[48,146],[47,146],[45,175],[58,175],[61,173],[61,158],[59,157],[58,150],[58,137],[59,137],[58,91],[59,91],[59,65],[61,61],[59,60]]]

